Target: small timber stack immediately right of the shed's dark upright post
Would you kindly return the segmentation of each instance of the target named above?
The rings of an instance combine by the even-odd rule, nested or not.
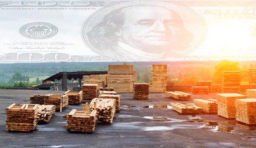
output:
[[[82,91],[66,91],[64,94],[68,95],[68,104],[78,105],[82,101]]]

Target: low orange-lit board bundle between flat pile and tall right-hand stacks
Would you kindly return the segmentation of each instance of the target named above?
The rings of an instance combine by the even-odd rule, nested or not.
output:
[[[214,99],[195,99],[194,104],[203,109],[203,112],[206,113],[217,113],[218,112],[218,104]]]

